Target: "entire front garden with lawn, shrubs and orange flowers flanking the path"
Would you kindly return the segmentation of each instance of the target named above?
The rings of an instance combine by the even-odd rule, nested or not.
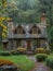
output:
[[[0,51],[0,66],[15,66],[19,71],[30,71],[37,63],[44,63],[53,70],[53,54],[50,49],[37,48],[32,55],[37,62],[29,59],[28,54],[26,55],[26,49],[18,48],[12,51]],[[32,57],[31,56],[31,57]]]

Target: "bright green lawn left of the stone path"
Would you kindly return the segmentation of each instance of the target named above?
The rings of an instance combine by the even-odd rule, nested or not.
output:
[[[0,59],[9,59],[13,61],[15,64],[19,66],[21,71],[29,71],[35,66],[35,62],[29,60],[27,56],[0,56]]]

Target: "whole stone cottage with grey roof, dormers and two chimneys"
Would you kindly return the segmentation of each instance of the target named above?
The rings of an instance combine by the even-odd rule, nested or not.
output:
[[[8,22],[8,38],[2,40],[4,49],[16,49],[24,47],[27,50],[49,47],[47,34],[47,19],[43,13],[41,23],[13,25],[12,20]]]

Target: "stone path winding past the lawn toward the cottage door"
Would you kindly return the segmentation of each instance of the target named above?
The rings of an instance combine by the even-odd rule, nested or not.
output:
[[[49,67],[47,67],[44,63],[37,62],[37,59],[34,56],[28,56],[28,58],[30,60],[35,61],[35,63],[36,63],[35,68],[30,71],[51,71],[51,69]]]

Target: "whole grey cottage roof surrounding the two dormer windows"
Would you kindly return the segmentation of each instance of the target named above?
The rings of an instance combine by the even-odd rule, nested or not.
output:
[[[23,35],[23,34],[19,34],[19,35],[13,34],[13,36],[12,36],[12,34],[10,34],[10,35],[9,35],[9,38],[48,38],[48,37],[47,37],[47,31],[45,31],[45,28],[43,28],[43,31],[42,31],[41,26],[39,26],[39,25],[40,25],[40,24],[22,24],[22,25],[17,24],[17,25],[15,26],[15,29],[16,29],[17,27],[22,27],[22,28],[24,29],[24,32],[25,32],[25,35]],[[37,35],[35,35],[35,36],[32,36],[32,34],[26,34],[26,32],[29,33],[29,31],[30,31],[32,27],[38,27],[38,28],[41,31],[41,34],[40,34],[40,35],[37,34]],[[42,32],[44,33],[44,35],[42,35]]]

